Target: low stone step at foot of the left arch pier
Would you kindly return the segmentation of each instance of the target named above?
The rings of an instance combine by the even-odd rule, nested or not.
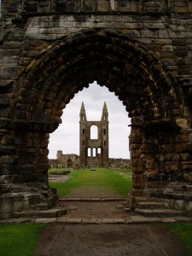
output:
[[[27,210],[22,212],[13,212],[12,218],[56,218],[67,214],[67,209],[57,207],[49,210]]]

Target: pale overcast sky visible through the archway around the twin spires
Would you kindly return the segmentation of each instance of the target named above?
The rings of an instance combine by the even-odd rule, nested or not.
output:
[[[63,109],[62,124],[50,134],[49,159],[55,159],[57,150],[63,154],[79,155],[79,112],[84,102],[88,121],[100,121],[104,102],[108,107],[109,157],[129,158],[130,119],[125,106],[107,87],[90,84],[89,88],[79,91]]]

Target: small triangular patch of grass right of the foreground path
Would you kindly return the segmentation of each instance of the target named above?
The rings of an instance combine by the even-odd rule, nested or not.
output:
[[[178,237],[184,247],[192,255],[192,223],[173,223],[166,224],[170,232]]]

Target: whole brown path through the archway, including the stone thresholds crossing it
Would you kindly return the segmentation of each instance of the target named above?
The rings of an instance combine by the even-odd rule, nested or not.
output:
[[[125,198],[86,187],[62,198],[61,207],[67,215],[34,220],[53,223],[41,234],[34,256],[189,256],[162,224],[191,218],[125,212]]]

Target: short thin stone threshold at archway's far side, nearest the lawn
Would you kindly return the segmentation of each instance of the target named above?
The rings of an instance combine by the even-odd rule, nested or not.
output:
[[[59,201],[126,201],[125,197],[62,197]]]

